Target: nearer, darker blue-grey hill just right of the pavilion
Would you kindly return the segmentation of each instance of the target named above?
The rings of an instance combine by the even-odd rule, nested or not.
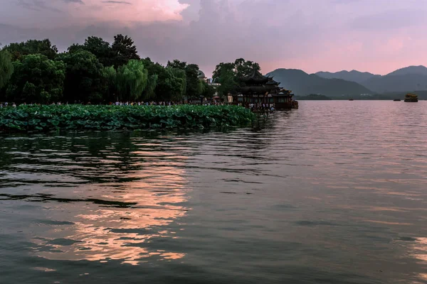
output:
[[[325,79],[315,74],[308,75],[302,70],[278,69],[268,73],[280,86],[291,89],[297,96],[323,94],[327,97],[359,96],[372,94],[371,90],[356,82],[341,79]]]

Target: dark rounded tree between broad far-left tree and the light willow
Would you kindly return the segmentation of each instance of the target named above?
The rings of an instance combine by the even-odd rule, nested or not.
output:
[[[66,65],[64,99],[68,102],[101,102],[107,94],[107,78],[96,56],[86,50],[63,53],[57,60]]]

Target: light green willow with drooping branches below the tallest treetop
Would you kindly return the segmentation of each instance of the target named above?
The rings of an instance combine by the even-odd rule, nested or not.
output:
[[[148,70],[139,60],[129,60],[126,65],[117,69],[117,92],[120,99],[136,101],[142,97],[147,87]]]

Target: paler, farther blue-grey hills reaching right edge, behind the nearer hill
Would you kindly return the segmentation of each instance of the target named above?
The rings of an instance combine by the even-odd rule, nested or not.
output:
[[[316,74],[329,79],[357,82],[377,93],[427,90],[427,67],[422,65],[404,67],[384,76],[356,70],[336,73],[317,72]]]

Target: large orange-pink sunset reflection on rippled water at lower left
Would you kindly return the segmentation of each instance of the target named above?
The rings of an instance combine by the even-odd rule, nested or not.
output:
[[[144,159],[147,165],[147,153],[144,153]],[[187,185],[184,170],[179,167],[184,160],[184,156],[156,159],[155,168],[127,173],[130,182],[85,185],[84,190],[101,190],[101,195],[96,197],[99,200],[131,205],[88,202],[83,207],[78,204],[55,207],[58,214],[63,209],[72,211],[74,217],[70,222],[73,224],[39,232],[33,238],[37,244],[33,252],[53,260],[118,260],[132,265],[149,257],[159,260],[183,258],[184,253],[147,249],[147,244],[157,238],[178,238],[176,231],[167,226],[190,209],[183,205],[187,200]]]

